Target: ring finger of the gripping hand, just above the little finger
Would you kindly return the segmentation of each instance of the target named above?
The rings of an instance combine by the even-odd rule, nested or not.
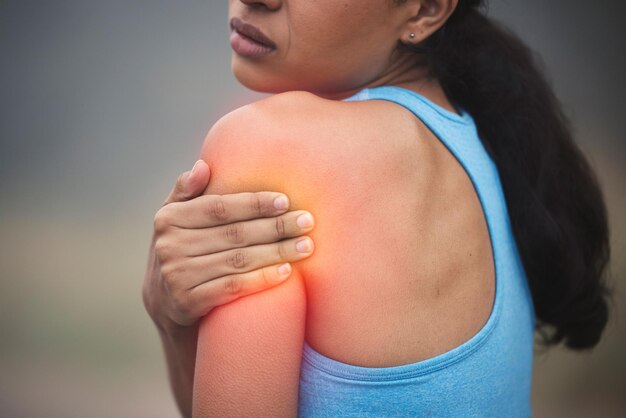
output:
[[[185,265],[185,285],[191,289],[223,276],[243,274],[278,263],[296,262],[309,257],[313,250],[313,240],[304,236],[192,257]]]

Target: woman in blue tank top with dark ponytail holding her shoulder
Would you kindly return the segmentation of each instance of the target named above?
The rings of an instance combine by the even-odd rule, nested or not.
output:
[[[528,416],[533,331],[598,342],[601,190],[481,3],[230,1],[235,76],[277,94],[211,129],[208,187],[199,163],[155,218],[144,298],[185,415]]]

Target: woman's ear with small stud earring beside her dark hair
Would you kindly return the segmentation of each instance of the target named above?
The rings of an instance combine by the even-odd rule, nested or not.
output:
[[[406,4],[409,18],[403,26],[400,42],[421,43],[448,21],[457,4],[458,0],[416,0]]]

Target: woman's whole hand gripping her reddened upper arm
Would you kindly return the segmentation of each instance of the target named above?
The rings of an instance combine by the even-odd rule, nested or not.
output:
[[[208,180],[209,168],[199,160],[179,176],[154,217],[143,299],[164,330],[193,325],[216,306],[282,283],[291,273],[289,262],[313,251],[308,237],[309,250],[296,249],[300,235],[313,229],[313,217],[286,212],[288,201],[274,207],[284,195],[202,195]],[[308,215],[310,226],[298,226],[301,215]]]

